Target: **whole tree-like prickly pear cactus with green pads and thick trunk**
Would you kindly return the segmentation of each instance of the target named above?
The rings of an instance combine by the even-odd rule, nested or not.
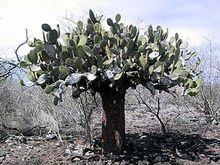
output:
[[[90,90],[102,98],[103,153],[120,154],[125,145],[125,93],[138,84],[151,91],[166,91],[175,86],[185,94],[197,93],[200,84],[195,67],[185,61],[195,52],[183,47],[178,34],[149,26],[143,34],[133,25],[121,23],[121,16],[108,18],[89,11],[86,23],[78,21],[71,33],[62,35],[59,26],[43,24],[43,38],[29,42],[30,52],[20,62],[28,78],[53,95],[57,105],[68,86],[72,97]],[[197,65],[197,64],[196,64]],[[195,66],[196,66],[195,65]],[[23,84],[23,81],[21,81]]]

